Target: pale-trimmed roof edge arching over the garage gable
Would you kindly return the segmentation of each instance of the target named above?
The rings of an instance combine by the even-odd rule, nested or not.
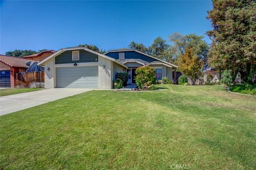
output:
[[[111,58],[111,57],[109,57],[109,56],[107,56],[107,55],[105,55],[105,54],[101,54],[101,53],[99,53],[99,52],[90,50],[90,49],[85,48],[85,47],[83,47],[83,46],[61,48],[59,51],[53,53],[52,55],[48,56],[47,58],[45,58],[44,60],[42,60],[41,62],[39,62],[38,65],[41,65],[41,64],[43,64],[45,61],[47,61],[47,60],[49,60],[49,59],[51,59],[51,58],[53,58],[53,57],[55,57],[55,56],[57,56],[57,55],[59,55],[59,54],[65,52],[65,51],[69,51],[69,50],[85,50],[85,51],[91,52],[91,53],[93,53],[93,54],[102,56],[103,58],[106,58],[106,59],[109,59],[109,60],[111,60],[111,61],[114,61],[114,62],[118,63],[119,65],[123,66],[124,68],[128,68],[127,66],[125,66],[125,64],[119,62],[119,61],[116,60],[116,59],[113,59],[113,58]]]

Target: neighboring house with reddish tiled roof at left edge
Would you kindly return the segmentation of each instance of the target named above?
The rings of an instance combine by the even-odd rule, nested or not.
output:
[[[0,87],[15,87],[15,74],[25,72],[35,61],[0,55]]]

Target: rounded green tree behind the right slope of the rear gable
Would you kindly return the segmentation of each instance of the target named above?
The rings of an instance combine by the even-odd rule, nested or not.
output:
[[[157,37],[153,44],[149,46],[149,53],[158,59],[164,59],[164,51],[167,50],[168,44],[162,37]]]

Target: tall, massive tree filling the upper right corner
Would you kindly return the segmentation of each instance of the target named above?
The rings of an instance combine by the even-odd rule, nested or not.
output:
[[[210,63],[219,69],[228,69],[232,77],[238,72],[247,82],[256,60],[256,2],[255,0],[213,0],[208,12],[213,30]]]

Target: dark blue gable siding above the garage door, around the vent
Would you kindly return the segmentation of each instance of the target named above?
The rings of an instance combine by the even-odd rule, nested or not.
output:
[[[79,51],[79,60],[72,61],[72,51]],[[97,61],[95,60],[97,59]],[[78,62],[98,62],[98,55],[85,50],[70,50],[55,57],[55,64],[78,63]]]

